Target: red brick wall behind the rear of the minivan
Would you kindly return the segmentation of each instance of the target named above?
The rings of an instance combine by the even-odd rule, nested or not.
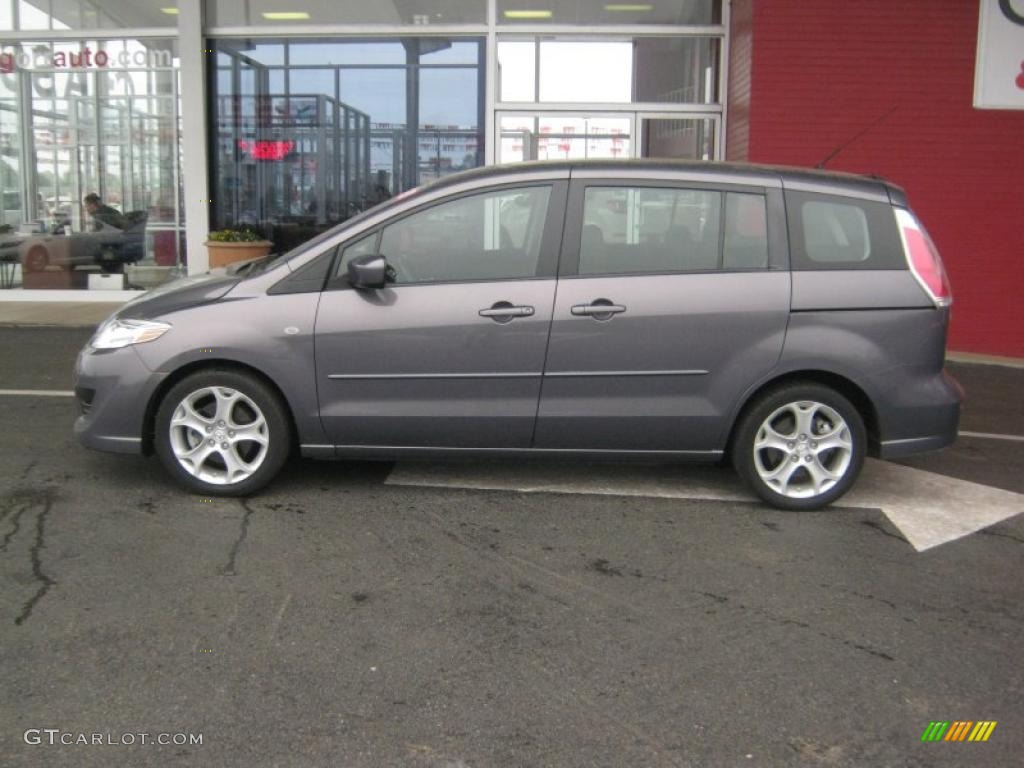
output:
[[[749,121],[751,162],[814,166],[892,111],[828,168],[906,188],[952,281],[950,349],[1024,357],[1024,112],[972,106],[978,3],[756,0],[753,40],[750,4],[732,3],[726,156]]]

